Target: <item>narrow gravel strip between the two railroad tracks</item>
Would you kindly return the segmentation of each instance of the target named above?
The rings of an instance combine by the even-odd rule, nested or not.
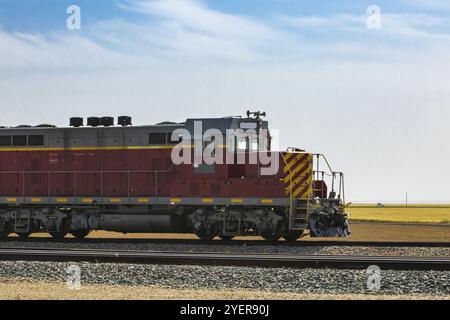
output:
[[[0,248],[46,248],[46,249],[103,249],[145,250],[174,252],[221,252],[242,254],[299,254],[299,255],[376,255],[376,256],[435,256],[450,257],[450,247],[363,247],[363,246],[282,246],[282,245],[226,245],[181,243],[83,243],[83,242],[0,242]]]

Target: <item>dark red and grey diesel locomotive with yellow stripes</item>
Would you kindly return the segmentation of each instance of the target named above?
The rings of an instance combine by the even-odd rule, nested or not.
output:
[[[0,237],[83,238],[91,230],[269,241],[296,240],[307,229],[350,235],[343,174],[323,155],[271,151],[263,115],[149,126],[91,117],[87,126],[71,118],[67,128],[0,128]]]

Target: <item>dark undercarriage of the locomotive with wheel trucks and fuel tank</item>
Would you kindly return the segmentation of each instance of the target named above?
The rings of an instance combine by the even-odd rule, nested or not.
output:
[[[155,207],[141,208],[20,208],[0,213],[0,236],[22,237],[47,232],[55,238],[92,230],[121,233],[194,233],[201,239],[219,236],[261,235],[275,239],[287,235],[287,215],[273,208]],[[135,213],[140,212],[140,213]]]

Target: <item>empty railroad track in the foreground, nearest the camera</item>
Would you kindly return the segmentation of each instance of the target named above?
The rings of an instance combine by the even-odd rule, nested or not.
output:
[[[2,248],[0,260],[450,270],[450,257],[344,256]]]

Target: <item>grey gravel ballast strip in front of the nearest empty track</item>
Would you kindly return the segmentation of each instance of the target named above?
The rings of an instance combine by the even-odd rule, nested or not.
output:
[[[80,267],[81,285],[255,289],[321,294],[450,295],[448,271],[381,270],[381,288],[378,291],[368,289],[370,274],[366,270],[4,261],[0,262],[0,278],[65,283],[66,270],[71,265]]]

